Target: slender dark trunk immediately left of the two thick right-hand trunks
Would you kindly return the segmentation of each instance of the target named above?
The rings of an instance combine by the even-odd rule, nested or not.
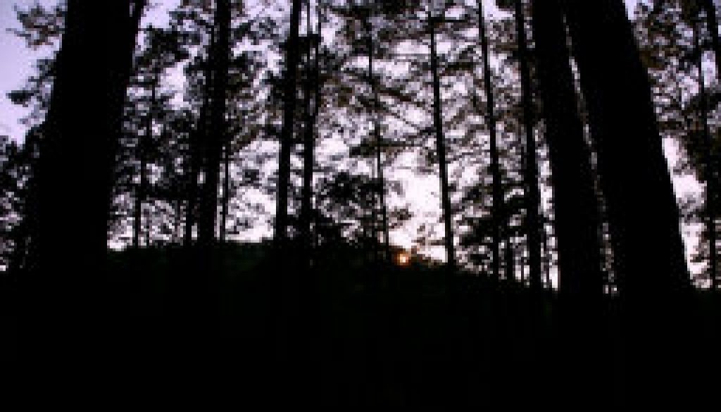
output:
[[[543,266],[541,263],[541,224],[539,208],[541,192],[539,190],[538,154],[534,137],[533,90],[531,89],[531,69],[529,66],[528,40],[526,38],[526,18],[523,15],[523,1],[516,0],[516,32],[518,39],[518,60],[521,65],[521,105],[523,106],[523,130],[526,132],[526,157],[523,170],[523,184],[526,191],[526,236],[528,247],[528,279],[531,288],[543,289]]]

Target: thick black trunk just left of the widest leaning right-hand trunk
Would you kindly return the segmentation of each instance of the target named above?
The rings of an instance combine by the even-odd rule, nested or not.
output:
[[[559,0],[534,1],[533,28],[552,171],[559,288],[600,304],[601,219]]]

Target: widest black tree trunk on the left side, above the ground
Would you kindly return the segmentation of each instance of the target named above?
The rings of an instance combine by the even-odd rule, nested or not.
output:
[[[144,6],[133,2],[131,15],[127,0],[105,3],[68,1],[37,170],[38,263],[45,269],[84,268],[78,276],[96,279],[105,261],[115,152]],[[107,44],[98,49],[93,38]],[[92,64],[88,56],[93,56]],[[84,110],[78,110],[79,98]],[[74,258],[78,251],[83,259]]]

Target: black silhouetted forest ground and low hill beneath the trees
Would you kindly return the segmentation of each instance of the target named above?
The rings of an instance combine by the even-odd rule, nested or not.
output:
[[[679,308],[681,326],[645,335],[614,299],[561,306],[428,263],[337,252],[305,270],[252,245],[217,253],[117,253],[95,293],[71,299],[5,279],[7,393],[595,409],[713,403],[721,385],[719,301],[704,292]]]

